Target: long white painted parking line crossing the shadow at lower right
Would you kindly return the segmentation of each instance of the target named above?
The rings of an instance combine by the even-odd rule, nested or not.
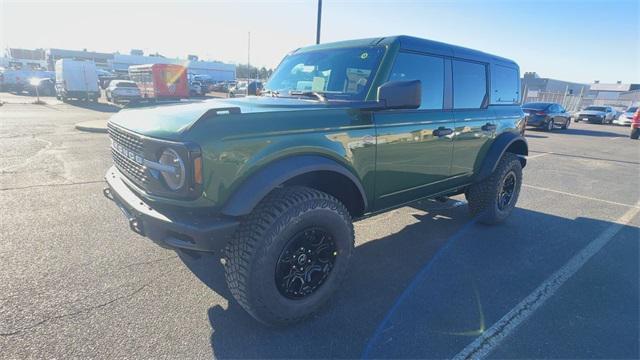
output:
[[[605,229],[595,240],[589,243],[569,260],[560,270],[544,281],[529,296],[511,309],[502,319],[487,329],[474,342],[467,345],[454,359],[483,359],[504,339],[506,339],[523,321],[539,309],[556,291],[569,280],[584,264],[598,253],[614,236],[640,212],[640,203],[627,210],[615,223]]]

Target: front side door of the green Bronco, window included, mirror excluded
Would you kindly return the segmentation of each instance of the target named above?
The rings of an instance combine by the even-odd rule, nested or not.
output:
[[[395,59],[389,80],[420,80],[422,102],[419,109],[374,114],[377,209],[446,188],[454,130],[453,114],[444,111],[449,64],[444,57],[414,52],[400,52]]]

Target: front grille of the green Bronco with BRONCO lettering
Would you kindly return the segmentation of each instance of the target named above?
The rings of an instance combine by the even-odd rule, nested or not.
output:
[[[147,180],[147,169],[143,163],[143,141],[138,135],[129,133],[108,124],[109,136],[113,141],[111,156],[113,162],[125,176],[144,185]]]

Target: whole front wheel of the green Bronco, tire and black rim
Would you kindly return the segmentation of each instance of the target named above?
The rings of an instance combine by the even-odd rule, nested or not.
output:
[[[268,325],[300,321],[329,300],[354,247],[347,209],[307,187],[278,188],[240,225],[225,277],[238,303]]]

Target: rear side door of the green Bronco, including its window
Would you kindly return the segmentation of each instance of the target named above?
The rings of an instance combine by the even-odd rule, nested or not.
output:
[[[453,59],[455,136],[451,175],[465,182],[495,138],[497,123],[489,110],[487,64]]]

